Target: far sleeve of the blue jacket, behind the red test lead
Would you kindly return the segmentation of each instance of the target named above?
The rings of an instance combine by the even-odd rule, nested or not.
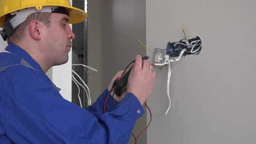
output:
[[[109,92],[108,88],[106,88],[105,91],[97,98],[95,103],[93,103],[92,105],[86,108],[86,110],[89,111],[96,118],[99,118],[104,114],[104,103],[105,103],[105,98],[108,95],[108,92]],[[115,99],[113,99],[113,107],[115,108],[116,105],[118,105],[118,102]],[[112,95],[108,96],[106,109],[107,111],[112,110]]]

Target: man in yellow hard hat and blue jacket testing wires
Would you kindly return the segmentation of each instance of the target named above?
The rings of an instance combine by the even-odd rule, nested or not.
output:
[[[1,36],[8,46],[0,53],[0,143],[125,144],[142,105],[152,92],[155,72],[136,56],[127,91],[104,101],[113,85],[86,109],[66,101],[45,72],[68,61],[69,23],[87,14],[69,0],[1,0]],[[118,72],[116,76],[121,76]],[[115,76],[115,77],[116,77]]]

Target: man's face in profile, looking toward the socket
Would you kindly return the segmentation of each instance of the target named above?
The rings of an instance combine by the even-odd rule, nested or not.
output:
[[[62,65],[68,62],[68,53],[72,46],[71,40],[75,38],[68,22],[69,16],[66,14],[52,13],[51,25],[46,28],[44,42],[53,65]]]

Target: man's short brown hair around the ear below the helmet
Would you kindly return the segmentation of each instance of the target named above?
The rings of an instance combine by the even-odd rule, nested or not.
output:
[[[47,27],[51,25],[51,15],[52,13],[32,13],[26,20],[16,27],[16,30],[9,36],[7,43],[18,43],[25,36],[26,27],[29,26],[31,20],[38,20],[42,22]]]

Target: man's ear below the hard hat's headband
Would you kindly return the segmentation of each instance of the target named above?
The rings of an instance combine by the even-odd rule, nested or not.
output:
[[[39,23],[37,20],[30,21],[30,26],[29,26],[30,36],[36,40],[40,40],[42,37],[42,33],[41,33],[42,28],[43,28],[42,24]]]

